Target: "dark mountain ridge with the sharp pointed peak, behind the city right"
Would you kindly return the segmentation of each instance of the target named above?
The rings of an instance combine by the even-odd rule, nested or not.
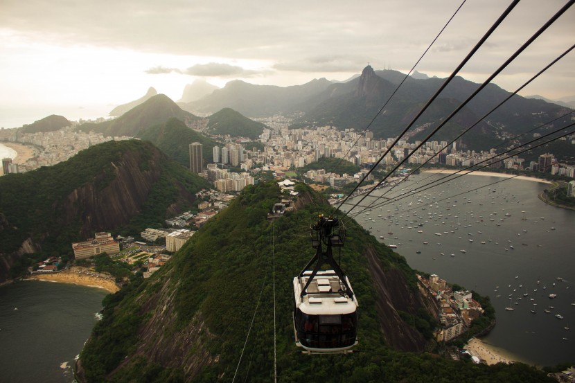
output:
[[[391,91],[403,80],[405,75],[398,71],[374,71],[366,66],[360,78],[345,84],[333,84],[317,96],[321,103],[308,103],[310,109],[297,121],[297,126],[315,123],[317,125],[335,125],[340,129],[355,128],[363,130],[378,113],[378,110],[391,96]],[[425,105],[445,79],[440,78],[407,78],[402,87],[387,104],[387,107],[375,119],[370,130],[376,137],[396,136],[412,120],[416,113]],[[353,87],[353,91],[350,91]],[[414,128],[421,127],[423,133],[412,134],[412,141],[422,139],[427,133],[449,116],[463,100],[466,100],[479,84],[465,80],[459,76],[454,78],[425,112]],[[489,112],[511,93],[501,89],[496,84],[488,84],[473,100],[456,114],[448,123],[453,137],[468,126],[475,123],[479,116]],[[530,100],[521,96],[513,96],[507,103],[499,107],[488,120],[481,121],[459,141],[459,147],[474,150],[491,148],[490,142],[501,136],[502,132],[518,134],[526,126],[535,127],[568,112],[566,107],[545,103],[542,100]],[[566,121],[566,120],[565,120]],[[446,125],[446,127],[448,126]],[[496,132],[500,130],[500,132]],[[444,131],[445,132],[445,131]],[[444,139],[434,136],[436,141]]]

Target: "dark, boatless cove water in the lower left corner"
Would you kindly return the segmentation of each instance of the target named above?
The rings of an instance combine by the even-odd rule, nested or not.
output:
[[[0,382],[70,383],[107,292],[24,280],[0,287]]]

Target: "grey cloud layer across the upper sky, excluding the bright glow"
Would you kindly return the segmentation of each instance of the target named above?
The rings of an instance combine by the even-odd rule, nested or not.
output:
[[[170,66],[174,64],[156,66],[145,71],[150,74],[181,71],[226,78],[269,73],[290,78],[296,72],[351,75],[360,73],[367,62],[375,69],[387,64],[393,69],[410,69],[459,2],[2,0],[0,28],[61,46],[206,57],[203,62],[220,59],[270,63],[267,72],[211,62],[188,69],[173,69]],[[483,73],[503,62],[564,3],[523,0],[497,28],[485,49],[481,48],[477,60],[470,62],[468,71]],[[506,6],[500,0],[468,1],[418,70],[449,73]],[[540,68],[572,44],[574,20],[575,8],[545,33],[551,37],[550,43],[531,55],[525,66]],[[574,55],[565,60],[575,67]],[[574,89],[575,84],[569,82],[569,86]]]

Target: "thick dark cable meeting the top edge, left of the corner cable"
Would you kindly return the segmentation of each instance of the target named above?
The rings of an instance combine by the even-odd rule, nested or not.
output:
[[[384,154],[382,154],[382,156],[380,157],[380,159],[378,159],[378,161],[371,167],[371,169],[369,170],[369,172],[366,173],[366,175],[364,175],[364,177],[360,180],[360,182],[355,186],[355,188],[353,188],[353,190],[351,190],[351,193],[349,193],[345,199],[342,201],[341,204],[339,204],[339,206],[337,206],[337,208],[335,209],[335,211],[338,211],[342,205],[348,200],[348,198],[355,192],[355,190],[357,190],[357,188],[360,187],[360,185],[367,179],[367,177],[369,177],[369,175],[371,174],[371,172],[373,172],[373,170],[375,170],[375,168],[378,167],[378,165],[380,164],[380,162],[384,159],[385,156],[387,156],[387,154],[391,151],[391,149],[398,143],[398,141],[400,141],[401,137],[407,133],[407,131],[409,130],[409,128],[412,127],[412,125],[414,125],[414,123],[417,121],[417,119],[423,114],[423,112],[425,112],[425,110],[430,107],[430,105],[434,102],[434,100],[439,96],[439,93],[441,93],[441,91],[443,91],[443,89],[445,89],[445,87],[448,86],[448,84],[451,82],[451,80],[453,80],[453,78],[457,75],[457,73],[459,73],[459,71],[461,71],[461,69],[463,68],[463,66],[471,59],[471,57],[473,55],[475,55],[475,53],[479,50],[479,48],[484,44],[484,42],[486,42],[486,40],[488,39],[488,37],[490,35],[493,34],[493,32],[495,31],[495,29],[497,29],[497,27],[503,22],[503,20],[509,15],[509,13],[511,13],[511,10],[513,10],[513,8],[515,8],[515,6],[517,6],[517,4],[519,3],[520,0],[514,0],[507,8],[506,10],[502,13],[501,16],[499,16],[499,18],[497,19],[497,21],[495,21],[495,23],[489,28],[489,30],[484,34],[483,37],[481,37],[481,39],[479,39],[479,42],[477,42],[477,44],[475,44],[475,46],[472,48],[472,50],[468,53],[468,55],[463,59],[463,61],[461,61],[461,63],[457,66],[457,68],[451,73],[451,75],[447,78],[447,80],[445,80],[443,82],[443,84],[441,85],[441,87],[439,87],[439,89],[437,89],[437,91],[434,93],[434,95],[430,98],[430,100],[427,101],[427,103],[425,103],[425,105],[423,106],[423,108],[421,108],[421,110],[418,112],[418,114],[416,114],[416,116],[412,119],[412,121],[407,125],[407,127],[405,127],[405,129],[403,130],[403,132],[401,132],[401,134],[397,137],[397,139],[395,139],[393,141],[393,143],[389,146],[389,148],[384,152]],[[573,0],[575,1],[575,0]],[[346,213],[347,214],[347,213]],[[345,215],[346,215],[345,214]],[[344,215],[344,217],[345,217]]]

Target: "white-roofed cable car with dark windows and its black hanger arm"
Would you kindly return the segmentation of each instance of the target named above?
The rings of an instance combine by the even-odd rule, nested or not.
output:
[[[344,245],[345,228],[337,217],[320,215],[311,227],[311,237],[315,256],[294,278],[296,346],[309,354],[351,353],[357,344],[358,303],[332,251]],[[325,264],[330,269],[322,270]]]

